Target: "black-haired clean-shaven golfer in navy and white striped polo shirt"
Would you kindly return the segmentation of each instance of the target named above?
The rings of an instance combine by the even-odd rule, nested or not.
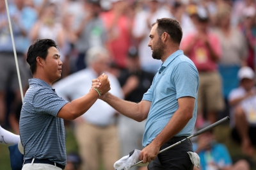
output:
[[[61,77],[60,54],[53,40],[36,40],[29,47],[29,79],[20,114],[20,141],[24,147],[24,169],[65,169],[67,164],[64,120],[74,120],[88,111],[100,93],[110,89],[108,75],[100,78],[99,89],[72,102],[58,97],[51,88]],[[93,86],[92,86],[93,88]]]

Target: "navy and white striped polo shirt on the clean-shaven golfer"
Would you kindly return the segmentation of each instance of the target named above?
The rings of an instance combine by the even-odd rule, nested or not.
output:
[[[20,112],[20,140],[24,160],[48,158],[67,164],[64,121],[57,114],[68,102],[41,79],[29,79],[29,89]]]

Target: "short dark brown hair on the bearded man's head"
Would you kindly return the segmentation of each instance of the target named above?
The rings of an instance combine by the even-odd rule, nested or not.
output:
[[[155,24],[157,24],[157,33],[159,36],[166,32],[171,36],[174,43],[180,44],[183,33],[177,20],[170,18],[157,19],[152,26]]]

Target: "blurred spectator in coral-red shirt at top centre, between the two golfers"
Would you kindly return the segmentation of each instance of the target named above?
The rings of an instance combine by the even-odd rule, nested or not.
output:
[[[126,1],[111,0],[111,2],[111,10],[101,15],[108,33],[107,46],[116,65],[125,68],[131,43],[132,22],[125,15],[125,8],[128,5]]]

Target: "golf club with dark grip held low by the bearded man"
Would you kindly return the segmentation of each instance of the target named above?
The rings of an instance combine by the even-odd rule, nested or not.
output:
[[[218,125],[220,125],[221,123],[224,123],[225,121],[228,121],[229,120],[229,117],[225,117],[223,118],[222,120],[219,120],[219,121],[216,121],[215,123],[212,123],[212,125],[209,125],[208,127],[205,127],[201,130],[199,130],[198,132],[196,132],[195,134],[193,135],[190,135],[189,137],[186,137],[185,139],[182,139],[181,141],[175,143],[175,144],[172,144],[171,146],[168,146],[167,148],[164,148],[163,150],[159,151],[159,153],[162,153],[163,151],[166,151],[166,150],[169,150],[170,148],[172,148],[173,146],[176,146],[192,137],[195,137],[196,135],[200,135],[204,132],[206,132],[207,130],[210,130],[211,128],[214,128],[214,127],[217,127]],[[159,154],[158,153],[158,154]],[[132,165],[131,167],[134,167],[134,166],[137,166],[138,164],[142,163],[142,160],[140,162],[137,162],[136,164]]]

